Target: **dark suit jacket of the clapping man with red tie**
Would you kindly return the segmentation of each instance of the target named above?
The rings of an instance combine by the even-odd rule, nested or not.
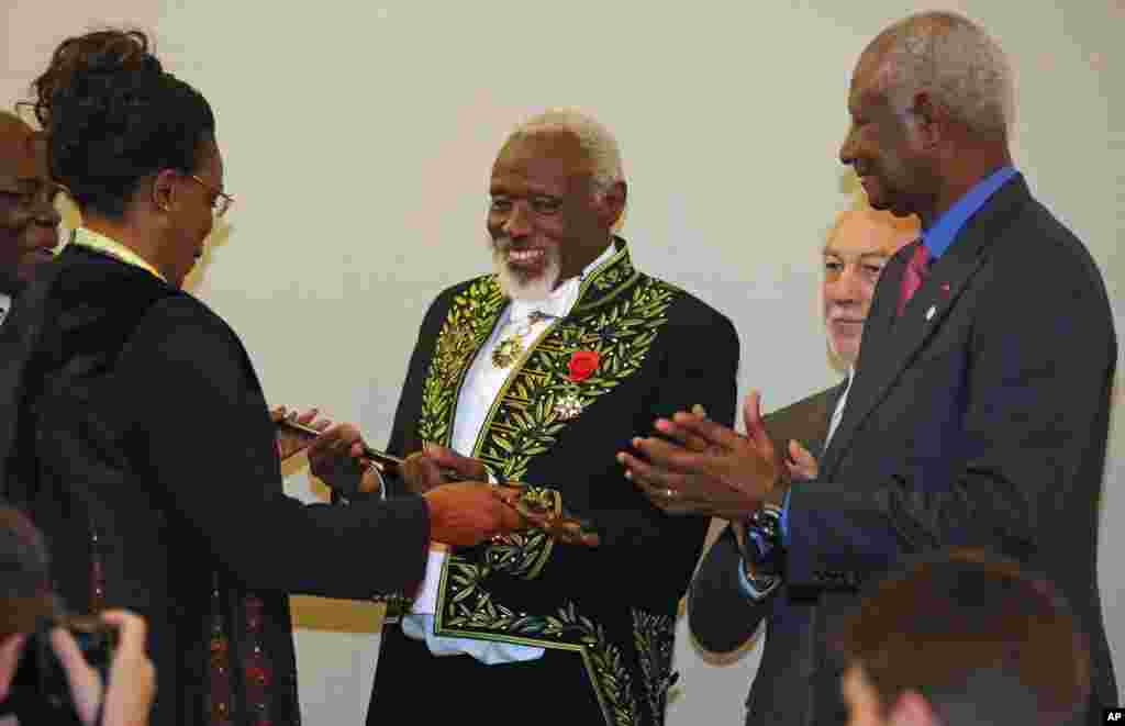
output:
[[[875,290],[819,480],[792,489],[785,586],[742,606],[741,617],[770,614],[748,724],[843,723],[829,643],[856,587],[956,545],[1055,580],[1090,636],[1096,699],[1117,700],[1095,559],[1117,360],[1101,275],[1022,176],[896,319],[909,253]]]

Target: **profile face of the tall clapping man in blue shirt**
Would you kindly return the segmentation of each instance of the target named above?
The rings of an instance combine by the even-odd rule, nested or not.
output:
[[[914,110],[891,102],[886,79],[879,49],[866,51],[852,76],[852,126],[840,162],[855,170],[873,208],[921,215],[933,208],[937,194],[935,160],[918,134]]]

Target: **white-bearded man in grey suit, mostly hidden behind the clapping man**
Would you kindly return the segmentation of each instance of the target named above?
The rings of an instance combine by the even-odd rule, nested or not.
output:
[[[828,233],[822,251],[825,332],[829,353],[847,366],[848,374],[839,384],[763,419],[776,450],[789,454],[786,466],[791,475],[814,474],[814,457],[839,426],[848,388],[855,379],[855,361],[875,283],[888,260],[917,238],[917,217],[896,217],[871,208],[840,212]],[[705,511],[709,505],[678,496],[668,499],[666,493],[654,492],[665,510]],[[745,601],[760,600],[778,581],[753,579],[753,571],[745,568],[745,523],[735,518],[711,545],[692,581],[687,606],[692,634],[709,651],[737,650],[754,635],[763,619],[768,621],[765,608],[757,608],[747,617]]]

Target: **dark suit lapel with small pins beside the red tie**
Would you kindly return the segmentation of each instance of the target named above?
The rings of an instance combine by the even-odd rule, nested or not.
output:
[[[987,258],[984,253],[988,247],[1004,236],[1011,218],[1027,199],[1027,184],[1019,175],[993,194],[930,267],[925,282],[902,311],[902,317],[897,317],[896,310],[906,261],[912,246],[908,245],[894,255],[892,274],[886,275],[884,271],[872,303],[867,324],[873,325],[864,327],[856,380],[848,394],[844,418],[821,461],[822,477],[830,480],[835,475],[856,430],[940,329]]]

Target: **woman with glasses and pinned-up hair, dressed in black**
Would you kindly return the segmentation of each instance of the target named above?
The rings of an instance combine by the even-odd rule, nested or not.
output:
[[[148,620],[152,723],[296,724],[286,593],[403,592],[453,512],[477,517],[468,544],[513,516],[485,484],[349,507],[285,497],[246,352],[180,290],[231,203],[207,101],[140,33],[65,40],[34,88],[52,174],[83,218],[37,282],[15,450],[62,593]],[[341,451],[325,464],[350,463]]]

